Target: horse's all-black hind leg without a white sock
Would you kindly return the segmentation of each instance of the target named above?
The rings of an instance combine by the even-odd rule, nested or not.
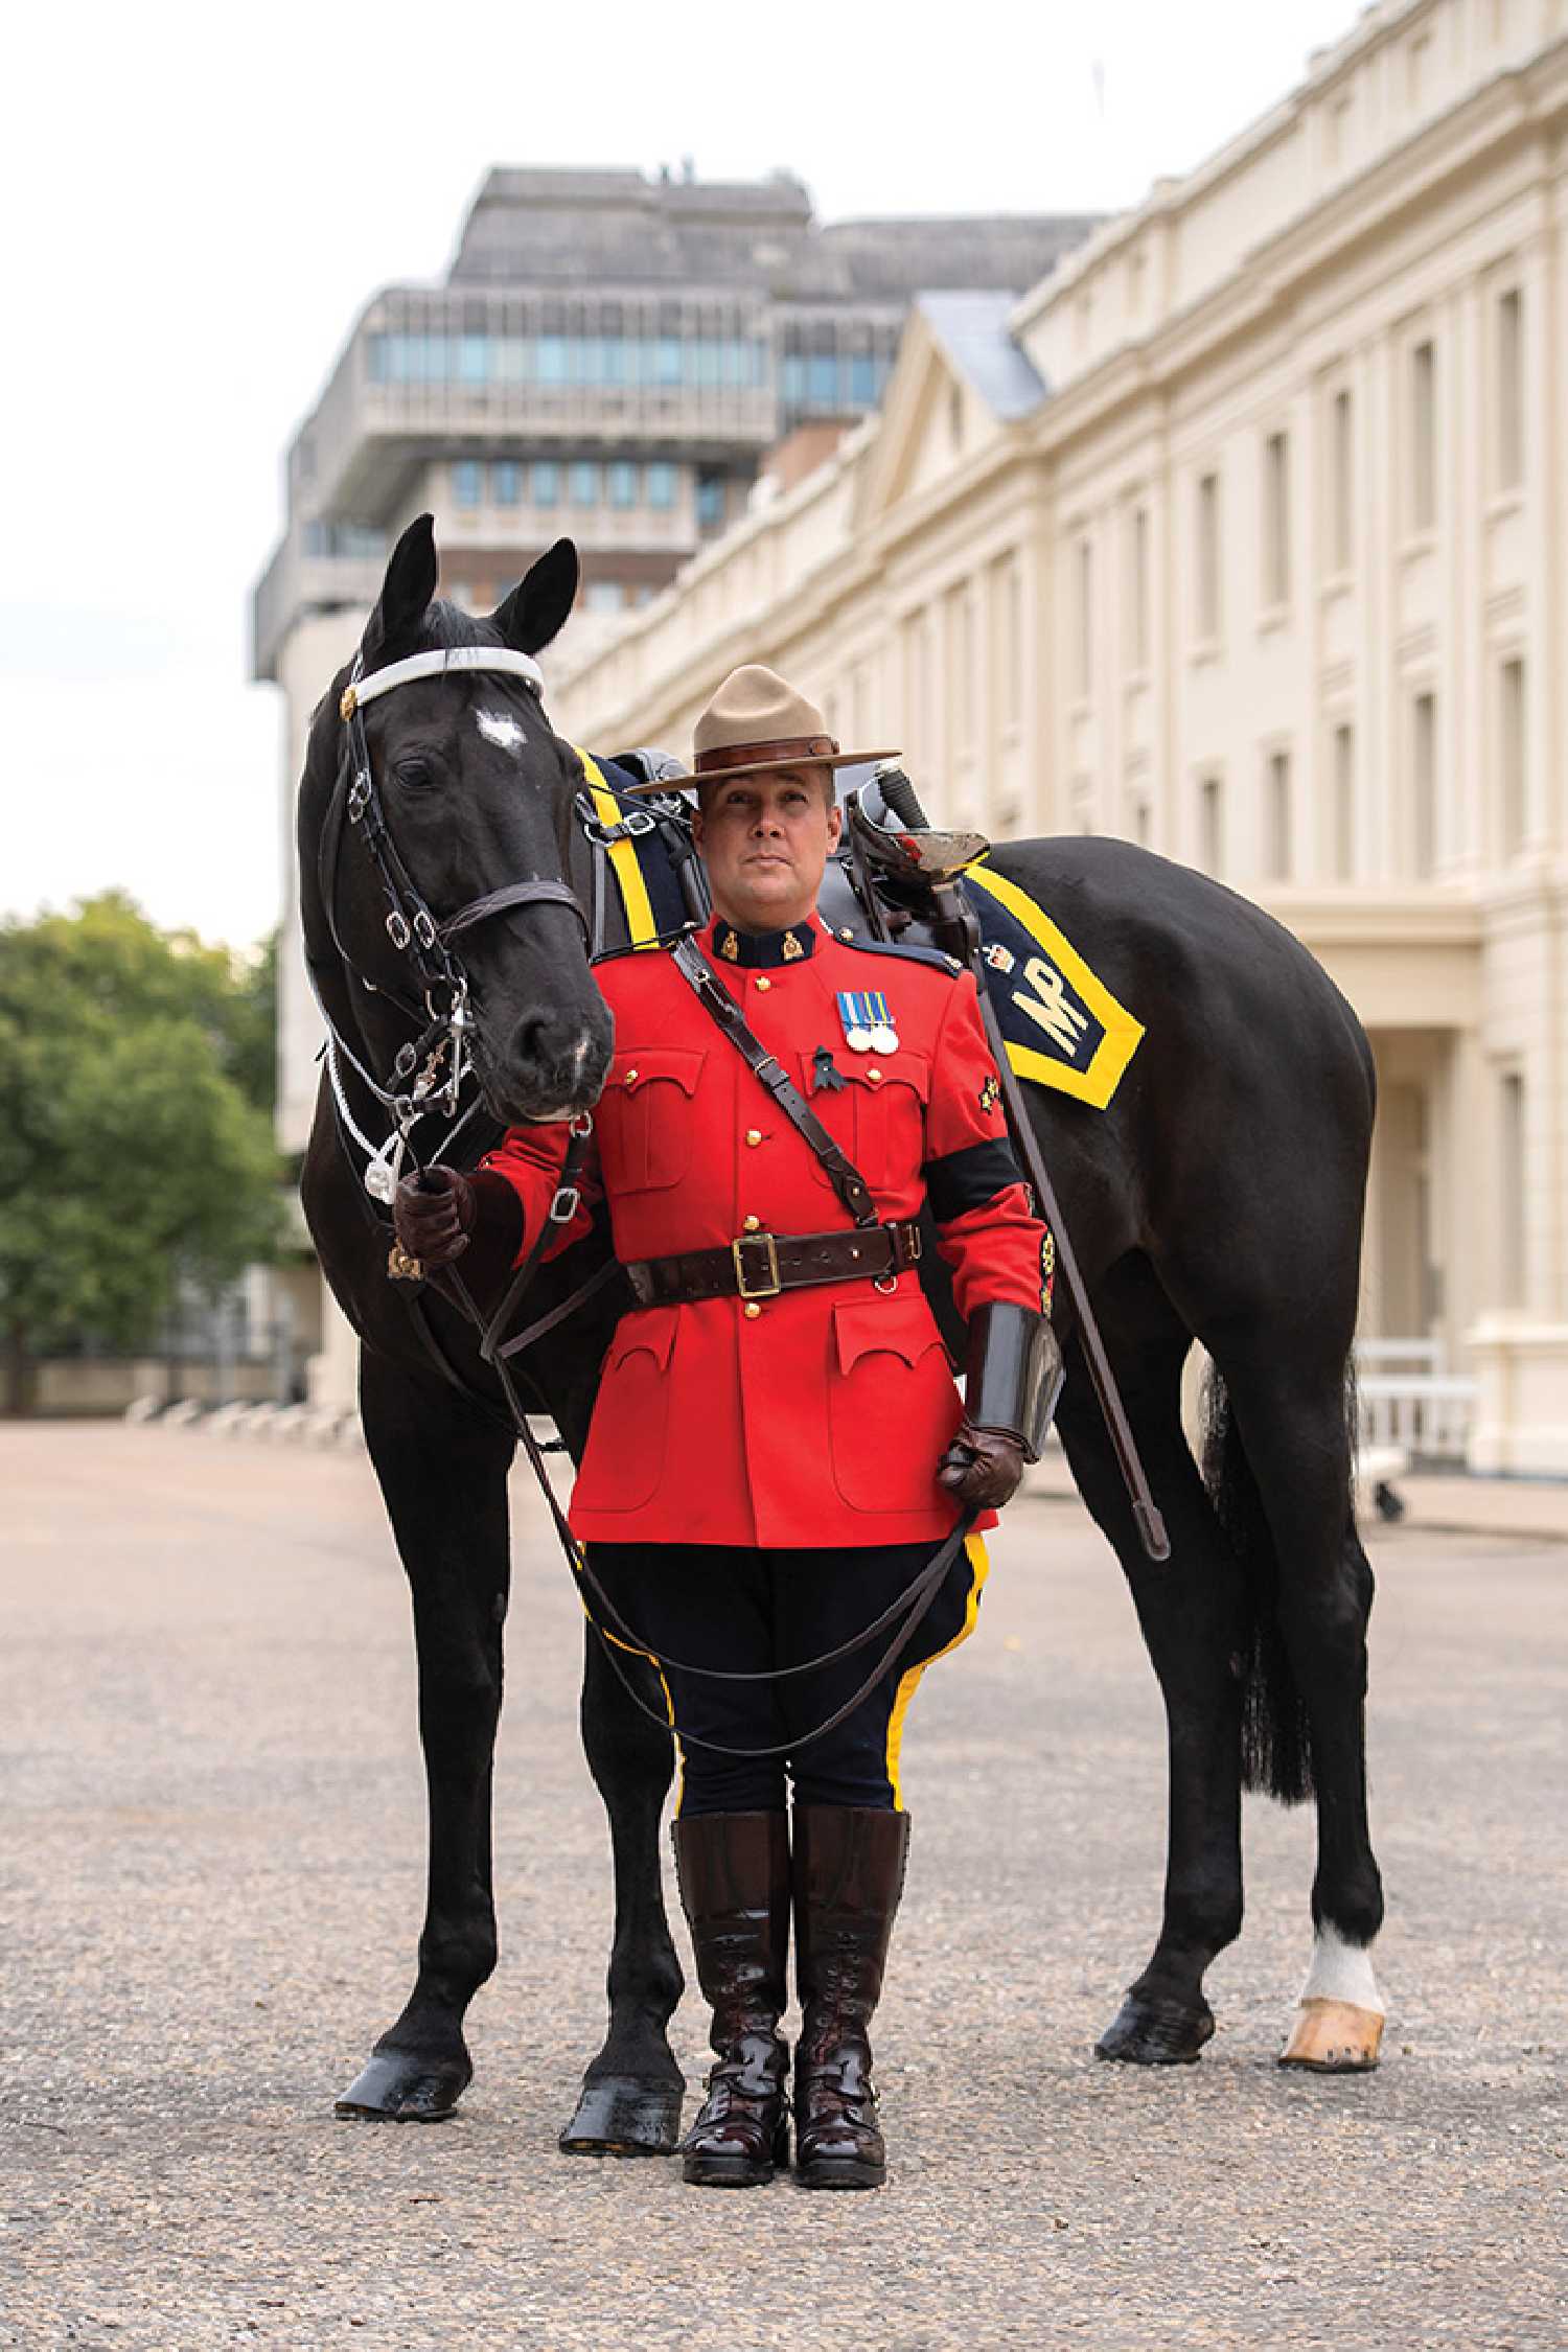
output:
[[[1168,1726],[1166,1896],[1159,1940],[1100,2058],[1180,2065],[1213,2034],[1204,1973],[1241,1931],[1241,1682],[1246,1595],[1180,1421],[1190,1338],[1145,1258],[1126,1258],[1095,1294],[1138,1451],[1171,1536],[1150,1562],[1133,1526],[1081,1357],[1058,1425],[1079,1491],[1126,1571]]]

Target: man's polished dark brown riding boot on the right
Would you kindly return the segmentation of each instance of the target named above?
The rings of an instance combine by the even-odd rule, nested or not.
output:
[[[910,1816],[811,1804],[795,1811],[795,2171],[804,2190],[886,2180],[865,2027],[882,1997]]]

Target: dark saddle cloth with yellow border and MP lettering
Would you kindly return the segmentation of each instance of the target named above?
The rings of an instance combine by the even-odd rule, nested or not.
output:
[[[609,910],[609,953],[656,948],[689,920],[670,837],[661,826],[623,833],[625,816],[639,807],[637,800],[621,797],[632,779],[614,760],[588,753],[581,760],[595,816],[611,835],[607,858],[616,903]],[[1143,1023],[1110,993],[1044,906],[997,873],[990,856],[976,858],[959,887],[980,920],[985,981],[1013,1070],[1037,1087],[1105,1110],[1143,1042]],[[839,913],[835,898],[835,924]],[[858,903],[853,913],[860,913]],[[872,943],[870,927],[865,938]],[[922,941],[919,927],[910,938]]]

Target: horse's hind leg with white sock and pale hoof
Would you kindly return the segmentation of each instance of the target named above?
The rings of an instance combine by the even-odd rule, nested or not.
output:
[[[1281,1359],[1267,1345],[1239,1362],[1232,1352],[1225,1371],[1279,1562],[1279,1632],[1316,1790],[1314,1952],[1284,2063],[1363,2072],[1382,2044],[1371,1959],[1382,1882],[1366,1818],[1373,1571],[1354,1522],[1345,1371],[1342,1362]]]

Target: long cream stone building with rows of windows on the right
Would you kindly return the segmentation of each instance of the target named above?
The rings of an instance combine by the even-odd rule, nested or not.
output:
[[[562,734],[686,748],[769,661],[992,835],[1258,898],[1382,1082],[1363,1331],[1568,1472],[1568,0],[1371,7],[1037,292],[919,301]]]

